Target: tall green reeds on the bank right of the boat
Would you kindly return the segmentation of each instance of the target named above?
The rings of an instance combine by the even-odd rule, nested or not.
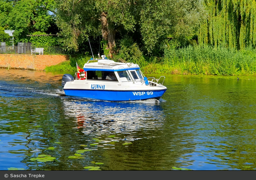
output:
[[[166,48],[158,63],[143,67],[144,73],[194,75],[256,75],[256,49],[190,46]]]

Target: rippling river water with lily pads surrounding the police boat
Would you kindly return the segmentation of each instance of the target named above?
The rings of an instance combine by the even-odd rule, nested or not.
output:
[[[105,102],[59,96],[62,75],[0,69],[0,170],[256,169],[255,77],[165,75],[159,101]]]

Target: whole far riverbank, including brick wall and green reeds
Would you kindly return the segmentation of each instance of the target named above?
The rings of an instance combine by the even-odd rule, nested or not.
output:
[[[76,72],[91,58],[68,55],[0,54],[0,68]],[[116,62],[119,59],[113,59]],[[141,56],[127,60],[139,64],[145,74],[256,76],[256,50],[191,46],[166,48],[162,58]]]

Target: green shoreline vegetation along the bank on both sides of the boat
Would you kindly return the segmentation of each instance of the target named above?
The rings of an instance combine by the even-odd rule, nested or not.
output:
[[[83,67],[90,58],[89,54],[70,56],[69,61],[47,66],[45,71],[76,72],[76,62]],[[112,60],[120,61],[118,55]],[[256,49],[253,48],[237,51],[197,45],[179,49],[166,47],[162,58],[130,56],[126,62],[139,64],[145,74],[256,76]]]

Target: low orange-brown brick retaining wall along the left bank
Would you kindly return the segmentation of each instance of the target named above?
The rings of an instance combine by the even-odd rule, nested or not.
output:
[[[43,70],[69,60],[67,55],[0,54],[0,68]]]

